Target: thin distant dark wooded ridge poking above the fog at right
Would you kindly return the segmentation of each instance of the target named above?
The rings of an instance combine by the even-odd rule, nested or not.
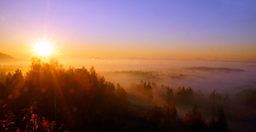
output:
[[[224,72],[244,72],[244,69],[227,68],[227,67],[188,67],[186,69],[200,70],[200,71],[224,71]]]

